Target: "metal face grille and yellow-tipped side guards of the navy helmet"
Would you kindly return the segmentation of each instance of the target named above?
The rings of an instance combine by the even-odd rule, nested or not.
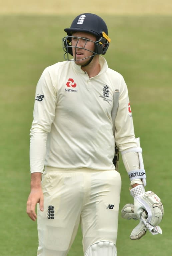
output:
[[[75,54],[76,54],[76,48],[84,49],[84,50],[89,51],[90,56],[83,58],[83,59],[87,59],[87,58],[90,58],[92,56],[99,55],[99,54],[104,55],[106,53],[108,47],[109,47],[110,38],[105,34],[105,32],[102,32],[102,37],[97,41],[92,41],[92,40],[89,40],[89,39],[86,39],[86,38],[75,36],[75,38],[77,39],[77,42],[76,42],[75,46],[71,45],[72,37],[73,36],[66,36],[66,37],[63,37],[63,39],[62,39],[62,41],[63,41],[63,50],[65,52],[65,54],[64,54],[65,60],[70,60],[69,59],[70,58],[69,54],[73,56],[72,48],[75,48]],[[85,45],[82,48],[77,46],[79,39],[85,40]],[[90,51],[89,49],[85,48],[86,43],[88,41],[94,43],[94,46],[95,46],[94,51]],[[73,61],[75,61],[76,56],[73,56],[73,57],[74,57]]]

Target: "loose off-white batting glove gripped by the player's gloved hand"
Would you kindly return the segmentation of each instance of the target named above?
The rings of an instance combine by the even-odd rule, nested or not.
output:
[[[139,214],[134,213],[134,204],[126,204],[121,210],[121,217],[124,219],[134,219],[139,220],[140,216]],[[141,218],[147,219],[148,214],[146,210],[142,209],[141,211]],[[143,220],[140,219],[139,224],[133,229],[133,231],[130,234],[131,240],[140,239],[142,236],[146,234],[147,227],[145,226]]]

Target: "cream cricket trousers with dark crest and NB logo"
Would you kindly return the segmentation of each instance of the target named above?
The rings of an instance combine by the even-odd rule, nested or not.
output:
[[[83,251],[101,240],[116,244],[121,177],[115,170],[46,168],[44,211],[38,204],[38,256],[66,256],[77,234]]]

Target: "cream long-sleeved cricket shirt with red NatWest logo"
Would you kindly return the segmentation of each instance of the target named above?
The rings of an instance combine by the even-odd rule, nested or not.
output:
[[[74,61],[58,62],[43,71],[30,133],[31,173],[43,172],[44,166],[113,170],[115,141],[120,151],[137,147],[126,83],[103,57],[99,60],[101,71],[92,78]],[[115,89],[120,96],[114,141]]]

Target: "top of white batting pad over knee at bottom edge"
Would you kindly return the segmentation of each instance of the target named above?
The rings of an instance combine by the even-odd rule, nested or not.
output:
[[[88,247],[85,256],[117,256],[116,246],[110,241],[99,241]]]

